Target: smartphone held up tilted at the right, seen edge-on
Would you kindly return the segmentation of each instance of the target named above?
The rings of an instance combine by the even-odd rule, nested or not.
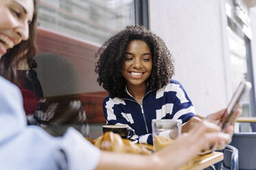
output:
[[[235,113],[239,106],[242,106],[241,101],[243,97],[248,94],[251,87],[252,85],[250,82],[240,82],[219,123],[219,125],[222,125],[222,132],[226,132],[226,127],[237,119],[237,115]]]

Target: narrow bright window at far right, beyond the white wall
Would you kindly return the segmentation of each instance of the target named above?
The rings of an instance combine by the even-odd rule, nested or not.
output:
[[[235,91],[237,84],[241,80],[247,80],[254,84],[253,65],[250,49],[250,39],[242,32],[242,29],[228,18],[228,45],[230,49],[231,82],[232,90]],[[242,101],[242,117],[255,116],[255,89],[254,86],[250,94]],[[250,125],[243,123],[240,125],[241,132],[250,132]]]

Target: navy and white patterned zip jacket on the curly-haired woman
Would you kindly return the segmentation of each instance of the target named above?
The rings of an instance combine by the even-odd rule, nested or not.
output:
[[[157,91],[148,89],[142,106],[127,90],[122,98],[108,96],[103,101],[103,111],[108,125],[129,125],[136,133],[132,138],[149,144],[153,144],[152,119],[181,119],[185,123],[195,115],[186,91],[175,80]]]

